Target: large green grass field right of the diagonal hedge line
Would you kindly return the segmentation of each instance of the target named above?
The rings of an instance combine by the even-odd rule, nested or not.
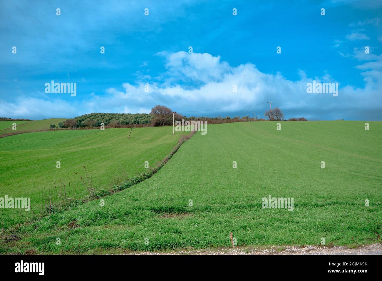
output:
[[[230,247],[230,232],[237,245],[379,242],[382,122],[369,131],[357,121],[281,123],[209,125],[150,179],[102,198],[105,206],[89,201],[24,225],[0,251]],[[268,195],[293,197],[294,210],[262,208]]]

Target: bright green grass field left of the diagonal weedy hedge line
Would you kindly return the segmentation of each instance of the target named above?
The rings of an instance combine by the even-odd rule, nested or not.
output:
[[[110,190],[145,171],[145,161],[154,167],[181,135],[173,135],[169,127],[134,128],[128,139],[129,133],[130,129],[63,130],[0,138],[0,197],[30,197],[32,202],[30,212],[0,209],[3,227],[40,213],[44,194],[59,193],[55,185],[59,190],[60,183],[65,183],[66,197],[87,195],[89,185],[83,166],[93,187]]]

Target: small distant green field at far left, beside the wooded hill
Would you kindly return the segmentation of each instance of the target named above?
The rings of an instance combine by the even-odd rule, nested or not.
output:
[[[0,122],[0,135],[16,133],[16,132],[33,132],[38,130],[49,129],[50,124],[55,124],[58,127],[58,123],[65,121],[65,118],[51,118],[42,120],[32,120],[32,121],[1,121]],[[2,125],[2,122],[4,123]],[[17,124],[16,130],[12,130],[12,123]],[[7,126],[9,124],[9,126]],[[7,127],[5,127],[7,126]]]

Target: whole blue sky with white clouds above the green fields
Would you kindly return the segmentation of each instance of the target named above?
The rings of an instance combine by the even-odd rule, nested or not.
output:
[[[382,0],[0,3],[0,117],[156,104],[264,117],[273,101],[286,118],[382,120]],[[45,93],[51,80],[76,83],[76,96]],[[338,96],[306,93],[313,80],[338,83]]]

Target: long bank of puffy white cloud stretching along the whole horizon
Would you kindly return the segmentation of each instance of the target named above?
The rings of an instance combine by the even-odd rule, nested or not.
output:
[[[354,49],[353,56],[359,60],[366,60],[360,51],[361,49]],[[323,113],[325,119],[377,119],[375,116],[380,116],[378,114],[382,109],[381,55],[367,57],[368,62],[357,66],[362,71],[364,88],[339,83],[338,97],[333,97],[332,94],[306,93],[306,83],[312,80],[338,82],[327,71],[324,71],[321,77],[308,77],[300,70],[300,79],[290,81],[281,73],[275,75],[263,73],[253,63],[231,67],[228,62],[222,62],[219,56],[214,57],[210,54],[190,55],[186,52],[177,52],[166,54],[164,57],[167,73],[163,75],[161,81],[149,83],[148,92],[145,91],[146,83],[137,81],[134,84],[123,83],[121,89],[108,88],[105,96],[90,95],[82,102],[74,99],[74,102],[69,103],[59,99],[46,101],[24,98],[15,104],[2,103],[0,115],[33,118],[44,112],[44,116],[50,118],[63,117],[56,116],[57,112],[65,112],[68,115],[65,117],[89,112],[148,113],[155,104],[163,104],[182,113],[182,110],[243,107],[269,100],[274,101],[274,106],[284,110],[286,117],[304,116],[308,119],[318,119]],[[196,86],[179,83],[183,80],[193,81]],[[237,92],[233,92],[233,85],[237,86]],[[370,99],[374,101],[372,104],[369,103]],[[265,106],[255,108],[263,110]],[[248,115],[244,114],[248,110],[253,111],[254,108],[200,114]],[[354,110],[361,113],[354,115]],[[185,115],[191,114],[185,113]]]

